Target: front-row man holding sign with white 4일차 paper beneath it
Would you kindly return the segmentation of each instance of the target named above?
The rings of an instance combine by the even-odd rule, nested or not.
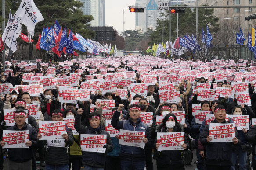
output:
[[[56,109],[52,112],[52,121],[63,121],[63,112],[60,109]],[[47,126],[48,127],[48,126]],[[42,128],[47,132],[47,127]],[[58,127],[54,127],[58,130]],[[69,170],[69,151],[68,146],[71,146],[74,142],[73,133],[71,128],[65,126],[65,131],[62,135],[63,139],[59,140],[40,140],[42,134],[37,134],[37,139],[40,140],[40,144],[47,145],[45,150],[45,168],[46,170]]]

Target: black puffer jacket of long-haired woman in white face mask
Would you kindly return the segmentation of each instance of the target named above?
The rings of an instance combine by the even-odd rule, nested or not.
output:
[[[162,128],[163,124],[160,124],[157,127],[157,132],[166,132],[165,129]],[[183,132],[183,126],[180,123],[176,123],[173,132]],[[157,138],[155,138],[155,143],[154,146],[157,143]],[[187,141],[187,138],[184,138],[184,143],[187,145],[187,150],[189,148],[189,143]],[[163,150],[163,151],[158,151],[158,163],[164,165],[183,165],[184,164],[184,151],[183,150]],[[155,153],[154,153],[155,155]]]

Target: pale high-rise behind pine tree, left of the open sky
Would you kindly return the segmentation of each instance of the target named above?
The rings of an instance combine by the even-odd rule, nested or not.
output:
[[[105,1],[104,0],[80,0],[83,2],[82,11],[85,15],[92,15],[94,20],[90,22],[91,26],[105,25]],[[104,3],[101,3],[103,1]],[[102,9],[102,10],[101,10]],[[102,21],[101,21],[102,16]]]

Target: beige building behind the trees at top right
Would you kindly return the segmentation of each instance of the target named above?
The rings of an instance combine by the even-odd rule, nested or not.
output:
[[[198,0],[198,6],[237,6],[235,8],[214,8],[213,15],[220,18],[219,22],[234,20],[240,26],[247,37],[247,32],[251,32],[251,28],[256,24],[255,20],[245,21],[245,17],[255,14],[256,0]],[[240,6],[252,6],[249,8],[240,8]],[[237,30],[239,32],[239,28]]]

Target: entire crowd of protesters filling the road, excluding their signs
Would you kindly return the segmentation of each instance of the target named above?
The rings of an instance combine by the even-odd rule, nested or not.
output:
[[[146,60],[155,64],[150,64]],[[112,61],[112,64],[109,63]],[[114,62],[113,62],[114,61]],[[57,63],[49,63],[49,66],[37,63],[37,67],[31,70],[25,70],[22,66],[11,64],[6,67],[6,70],[13,70],[6,73],[0,72],[0,83],[10,83],[12,86],[18,86],[18,91],[13,90],[9,94],[1,95],[0,100],[0,135],[3,130],[29,130],[29,141],[26,145],[29,148],[1,148],[0,170],[36,170],[40,162],[40,167],[45,167],[46,170],[153,170],[154,165],[152,158],[156,160],[158,170],[185,170],[187,169],[188,150],[196,152],[195,164],[198,170],[249,170],[251,167],[256,169],[256,126],[251,126],[249,130],[236,130],[235,137],[231,142],[211,142],[212,136],[209,135],[209,125],[206,125],[205,120],[202,124],[195,121],[195,116],[192,114],[192,104],[200,104],[202,111],[211,111],[215,119],[212,123],[228,124],[234,123],[229,115],[249,115],[250,123],[252,118],[256,118],[256,94],[253,82],[247,83],[249,88],[251,105],[238,105],[236,95],[233,98],[225,96],[224,98],[217,97],[216,100],[197,100],[198,91],[193,94],[193,87],[196,88],[197,83],[211,84],[210,88],[217,87],[232,87],[232,83],[228,80],[216,81],[215,79],[208,80],[205,77],[196,77],[195,82],[190,83],[187,80],[180,80],[175,84],[175,89],[180,92],[180,100],[176,103],[161,102],[159,99],[159,74],[157,74],[157,83],[148,86],[147,96],[135,95],[130,97],[130,88],[127,88],[126,100],[119,97],[117,91],[115,93],[103,94],[101,90],[91,91],[88,101],[76,101],[76,104],[59,102],[59,86],[55,89],[44,89],[39,96],[30,96],[28,92],[24,92],[22,86],[28,85],[29,82],[23,82],[24,73],[43,73],[47,76],[47,68],[55,67],[55,77],[68,77],[70,73],[78,73],[78,69],[82,69],[81,77],[77,83],[80,89],[81,83],[87,81],[88,75],[102,74],[97,68],[95,62],[107,68],[115,68],[106,74],[119,73],[119,69],[136,73],[133,83],[143,83],[141,75],[137,72],[136,66],[145,67],[151,66],[148,73],[154,74],[156,70],[162,73],[173,74],[172,68],[198,70],[201,72],[200,66],[207,63],[196,62],[193,60],[169,60],[156,59],[152,56],[126,56],[115,58],[102,59],[86,59],[72,61],[70,69],[64,69],[64,65]],[[133,62],[133,66],[128,63]],[[144,62],[144,63],[143,63]],[[219,61],[212,61],[214,66],[208,66],[206,72],[215,73],[217,70],[234,69],[234,73],[254,72],[253,63],[244,61],[227,62],[221,61],[224,66],[220,67]],[[81,67],[81,63],[86,63]],[[119,63],[119,66],[114,66]],[[142,64],[143,63],[143,64]],[[197,63],[198,66],[195,66]],[[245,63],[245,64],[244,64]],[[181,66],[185,64],[185,66]],[[215,66],[217,66],[215,68]],[[148,67],[147,67],[148,68]],[[90,73],[91,69],[95,69]],[[153,71],[153,72],[152,72]],[[232,75],[234,75],[232,73]],[[156,73],[155,73],[156,74]],[[105,75],[103,75],[104,78]],[[122,77],[123,78],[123,77]],[[97,76],[94,76],[97,79]],[[124,78],[123,78],[124,79]],[[246,77],[242,82],[246,81]],[[168,82],[173,83],[173,82]],[[118,84],[117,88],[123,88]],[[104,104],[97,101],[98,99],[115,100],[115,107],[112,108],[111,125],[117,129],[130,131],[144,131],[145,138],[142,141],[145,143],[145,148],[135,146],[126,146],[119,144],[119,135],[110,137],[106,131],[105,119],[102,117],[102,108]],[[131,104],[131,100],[139,100],[138,104]],[[26,104],[40,104],[40,118],[35,119],[26,110]],[[90,111],[90,105],[96,105],[93,111]],[[4,110],[15,110],[15,125],[8,127],[4,121]],[[174,111],[185,111],[185,122],[179,123]],[[140,112],[153,112],[153,123],[146,125],[141,121]],[[25,122],[25,116],[28,115],[28,121]],[[156,116],[163,116],[162,123],[156,124]],[[47,146],[48,140],[39,140],[42,135],[39,133],[40,121],[63,121],[63,118],[75,118],[74,127],[79,135],[73,135],[71,128],[66,127],[66,134],[63,134],[61,147]],[[164,150],[158,151],[159,143],[157,143],[157,133],[162,132],[184,132],[185,138],[182,143],[181,150]],[[85,152],[80,148],[81,134],[104,134],[107,136],[107,144],[105,153]],[[5,146],[5,142],[1,139],[1,147]],[[4,153],[7,153],[8,167],[4,167]],[[185,156],[184,156],[185,154]],[[250,156],[252,154],[252,157]],[[153,156],[152,156],[153,155]],[[251,162],[251,163],[250,163]],[[192,162],[194,163],[194,162]]]

